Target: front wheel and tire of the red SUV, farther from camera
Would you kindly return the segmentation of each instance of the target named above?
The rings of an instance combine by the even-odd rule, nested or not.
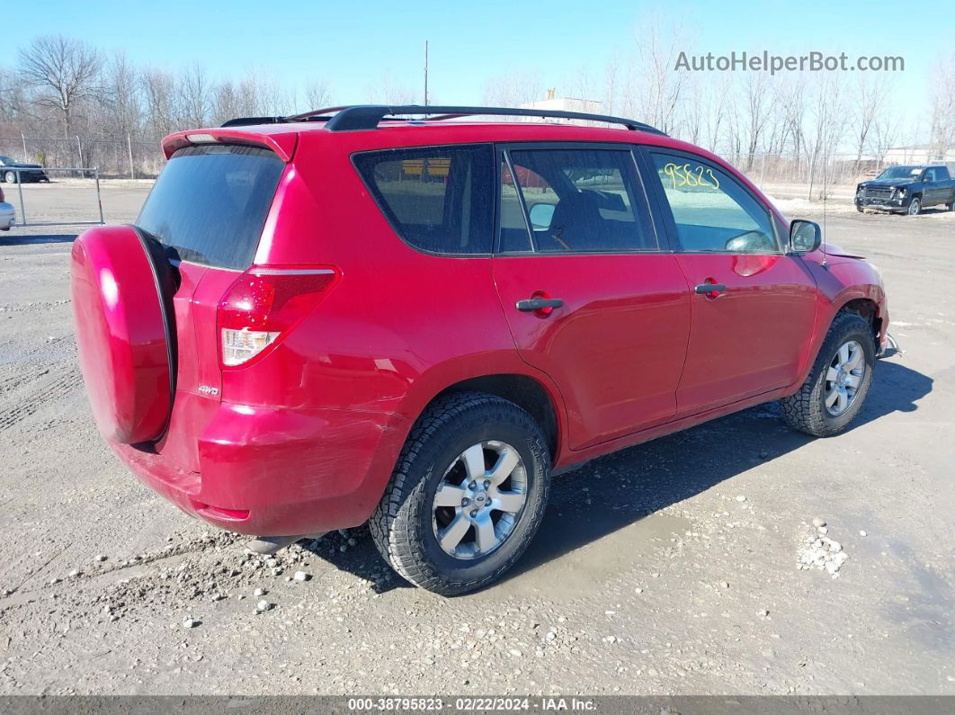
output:
[[[860,350],[858,367],[851,363],[853,346]],[[846,360],[840,360],[840,351]],[[855,313],[839,313],[829,327],[806,382],[795,395],[779,400],[786,423],[794,430],[816,437],[830,437],[845,431],[862,409],[872,386],[875,365],[876,341],[872,326]],[[858,384],[853,388],[856,378]],[[854,391],[846,396],[849,389]],[[835,401],[827,404],[830,399]],[[847,404],[839,409],[843,399]]]

